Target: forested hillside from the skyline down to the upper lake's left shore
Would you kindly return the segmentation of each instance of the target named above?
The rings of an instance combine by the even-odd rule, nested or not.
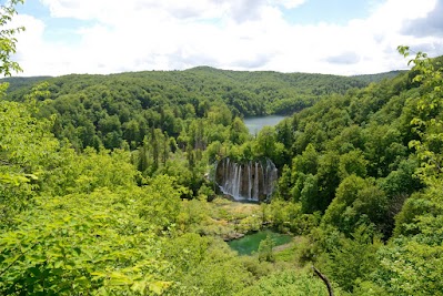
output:
[[[28,79],[28,84],[26,81],[9,80],[9,100],[22,101],[41,79]],[[40,114],[56,114],[52,132],[59,139],[69,139],[80,150],[98,149],[101,144],[107,149],[120,147],[123,141],[135,149],[151,129],[159,129],[175,141],[183,140],[193,133],[189,126],[194,119],[217,113],[224,120],[212,122],[229,125],[235,116],[292,114],[333,93],[366,85],[338,75],[238,72],[208,67],[71,74],[46,81],[49,93],[39,98],[46,100]],[[197,142],[203,147],[214,140],[210,135],[202,137]]]

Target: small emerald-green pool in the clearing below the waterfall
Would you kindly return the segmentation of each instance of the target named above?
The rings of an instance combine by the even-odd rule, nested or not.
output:
[[[239,255],[251,255],[259,251],[260,242],[270,235],[274,241],[274,246],[280,246],[291,242],[292,236],[288,234],[275,233],[270,229],[260,231],[253,234],[248,234],[239,239],[228,242],[228,245],[239,253]]]

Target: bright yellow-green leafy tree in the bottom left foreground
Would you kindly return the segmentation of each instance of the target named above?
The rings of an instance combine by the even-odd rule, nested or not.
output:
[[[0,294],[162,294],[171,266],[159,258],[151,222],[139,215],[151,196],[125,190],[40,198],[0,234]]]

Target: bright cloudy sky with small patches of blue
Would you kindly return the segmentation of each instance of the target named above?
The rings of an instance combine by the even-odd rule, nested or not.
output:
[[[0,0],[3,4],[6,0]],[[443,54],[443,0],[26,0],[20,75],[209,65],[368,74]]]

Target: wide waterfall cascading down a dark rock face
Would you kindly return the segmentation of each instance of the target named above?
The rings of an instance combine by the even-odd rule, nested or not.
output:
[[[276,167],[269,159],[235,163],[229,157],[215,165],[215,183],[236,201],[263,201],[274,191]]]

